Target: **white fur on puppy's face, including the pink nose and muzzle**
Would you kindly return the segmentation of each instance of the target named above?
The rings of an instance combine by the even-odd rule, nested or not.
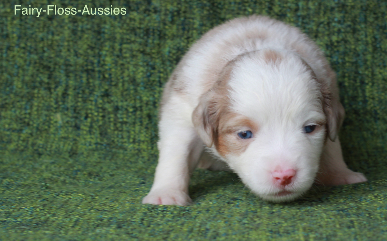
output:
[[[243,126],[249,121],[229,127],[235,131],[228,136],[236,137],[228,145],[245,148],[223,153],[223,159],[253,193],[265,200],[286,201],[305,193],[314,181],[325,115],[317,81],[299,57],[274,53],[269,56],[274,61],[268,62],[261,50],[241,57],[233,67],[228,83],[231,112],[256,127]],[[311,125],[315,129],[305,133],[305,126]],[[252,131],[253,136],[238,138],[240,131]]]

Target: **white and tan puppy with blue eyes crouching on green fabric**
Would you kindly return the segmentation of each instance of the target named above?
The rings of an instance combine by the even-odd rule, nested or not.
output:
[[[265,16],[228,21],[202,36],[166,83],[158,165],[142,203],[188,205],[197,166],[231,169],[272,202],[295,200],[314,181],[367,181],[344,163],[343,118],[335,74],[305,34]]]

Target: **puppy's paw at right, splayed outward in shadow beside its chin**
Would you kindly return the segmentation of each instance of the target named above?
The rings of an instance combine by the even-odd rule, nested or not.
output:
[[[361,172],[353,172],[348,169],[346,172],[318,175],[316,184],[325,186],[337,186],[345,184],[353,184],[358,182],[366,182],[367,178]]]

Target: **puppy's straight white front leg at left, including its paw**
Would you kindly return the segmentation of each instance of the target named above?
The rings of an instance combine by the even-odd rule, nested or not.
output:
[[[142,203],[156,205],[188,205],[188,184],[203,150],[203,143],[194,127],[161,121],[159,160],[154,181]]]

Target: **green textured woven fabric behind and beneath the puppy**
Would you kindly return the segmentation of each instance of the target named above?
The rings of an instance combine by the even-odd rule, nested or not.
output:
[[[14,14],[48,4],[127,14]],[[387,240],[386,12],[382,0],[0,0],[0,240]],[[203,33],[250,14],[324,49],[345,160],[370,181],[272,204],[235,174],[196,170],[193,205],[141,205],[163,83]]]

